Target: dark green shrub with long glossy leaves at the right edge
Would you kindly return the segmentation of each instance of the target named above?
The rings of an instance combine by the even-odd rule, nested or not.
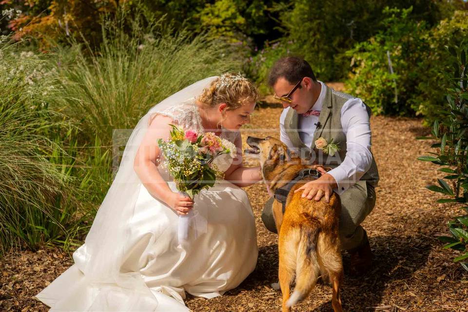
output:
[[[428,185],[431,191],[447,195],[439,199],[440,203],[460,205],[465,210],[464,215],[456,216],[448,222],[451,236],[439,237],[447,243],[444,248],[461,252],[453,261],[460,262],[468,271],[468,45],[461,48],[449,47],[452,59],[456,59],[451,88],[447,95],[448,105],[438,113],[441,119],[436,120],[432,127],[432,137],[419,139],[436,139],[434,156],[421,156],[422,161],[431,161],[443,166],[439,171],[447,173],[442,179],[437,179],[439,185]]]

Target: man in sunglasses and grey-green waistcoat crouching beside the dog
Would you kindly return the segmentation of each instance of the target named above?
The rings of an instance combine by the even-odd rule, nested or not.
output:
[[[351,271],[365,273],[370,268],[372,252],[360,224],[375,205],[374,188],[379,180],[370,152],[369,107],[360,98],[336,92],[318,81],[309,63],[301,58],[277,60],[269,84],[284,108],[280,117],[281,141],[301,158],[332,168],[306,183],[299,192],[316,201],[322,197],[328,201],[332,191],[340,195],[342,249],[351,254]],[[326,142],[316,142],[318,138]],[[324,143],[335,143],[338,151],[334,155],[324,153]],[[269,231],[276,233],[273,200],[272,197],[265,204],[262,220]]]

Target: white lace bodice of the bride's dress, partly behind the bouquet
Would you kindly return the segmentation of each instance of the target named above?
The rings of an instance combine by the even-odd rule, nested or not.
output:
[[[195,104],[195,98],[182,102],[178,105],[168,107],[165,110],[156,112],[155,115],[170,117],[173,119],[174,124],[183,128],[184,130],[194,130],[199,134],[205,132],[200,113],[198,111],[198,106]],[[234,144],[234,141],[238,136],[240,136],[238,131],[222,129],[221,135],[219,137],[225,138]],[[225,172],[231,166],[232,161],[233,159],[231,156],[225,154],[217,156],[214,162],[218,167],[218,170]]]

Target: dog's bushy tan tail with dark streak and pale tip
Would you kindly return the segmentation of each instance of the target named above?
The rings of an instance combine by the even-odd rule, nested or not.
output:
[[[320,219],[316,217],[307,217],[307,221],[300,226],[301,235],[299,236],[296,258],[296,286],[286,302],[287,307],[302,301],[315,287],[320,274],[317,259],[317,240],[320,227]]]

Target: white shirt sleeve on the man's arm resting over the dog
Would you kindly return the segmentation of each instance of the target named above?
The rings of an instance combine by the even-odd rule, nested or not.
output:
[[[360,98],[351,98],[343,105],[341,126],[346,135],[346,156],[341,165],[328,172],[338,184],[333,191],[339,195],[364,176],[372,163],[370,120]]]

